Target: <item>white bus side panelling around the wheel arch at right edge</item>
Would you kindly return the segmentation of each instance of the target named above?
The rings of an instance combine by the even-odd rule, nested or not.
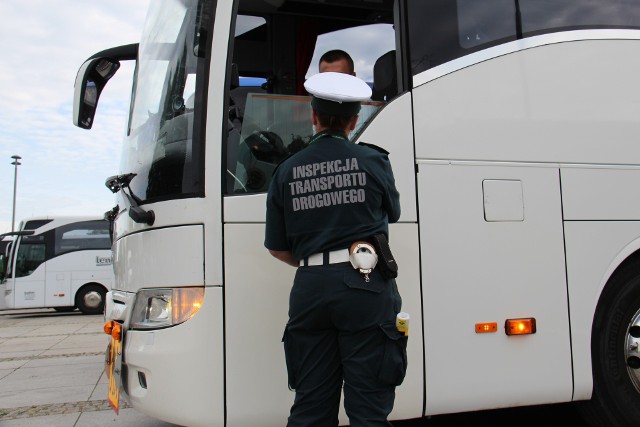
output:
[[[563,167],[571,324],[591,325],[613,271],[640,248],[640,168]],[[589,399],[591,329],[573,328],[574,399]]]

